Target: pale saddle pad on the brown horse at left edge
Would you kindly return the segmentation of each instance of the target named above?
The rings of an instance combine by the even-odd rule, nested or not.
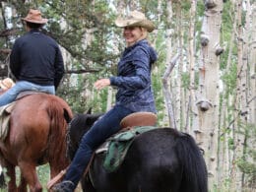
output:
[[[9,131],[10,114],[15,101],[0,107],[0,140],[4,141]]]

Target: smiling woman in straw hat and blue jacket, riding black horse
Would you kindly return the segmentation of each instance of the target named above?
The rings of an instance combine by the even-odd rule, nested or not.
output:
[[[118,18],[115,24],[123,28],[127,47],[118,63],[118,75],[97,80],[95,88],[101,90],[107,86],[117,87],[116,103],[83,136],[64,180],[54,185],[53,191],[75,190],[93,152],[108,137],[120,130],[122,118],[137,111],[156,113],[151,69],[157,60],[157,53],[146,39],[148,32],[154,31],[154,24],[138,11],[131,12],[127,19]]]

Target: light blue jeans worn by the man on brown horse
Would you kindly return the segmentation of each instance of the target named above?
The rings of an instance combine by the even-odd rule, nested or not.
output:
[[[32,84],[31,82],[19,81],[15,84],[14,87],[0,96],[0,106],[11,103],[23,91],[37,91],[55,95],[54,86],[39,86]]]

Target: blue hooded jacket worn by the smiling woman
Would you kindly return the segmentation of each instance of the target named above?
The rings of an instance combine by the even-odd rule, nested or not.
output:
[[[117,87],[116,104],[133,111],[156,113],[151,69],[157,61],[157,52],[146,39],[127,47],[118,63],[117,76],[110,77],[111,86]]]

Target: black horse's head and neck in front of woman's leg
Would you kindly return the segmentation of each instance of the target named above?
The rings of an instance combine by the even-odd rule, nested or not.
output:
[[[91,110],[88,110],[84,114],[76,114],[69,123],[68,128],[68,149],[67,154],[70,160],[73,160],[82,137],[96,122],[100,114],[91,114]]]

